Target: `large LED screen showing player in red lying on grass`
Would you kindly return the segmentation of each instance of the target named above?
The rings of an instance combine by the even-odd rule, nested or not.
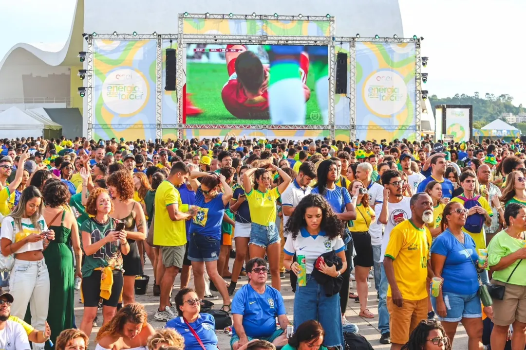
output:
[[[326,125],[327,46],[186,47],[187,124]]]

